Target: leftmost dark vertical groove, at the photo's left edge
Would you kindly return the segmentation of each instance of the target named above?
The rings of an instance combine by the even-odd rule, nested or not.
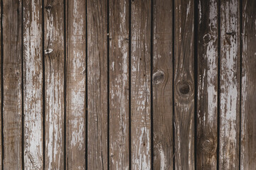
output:
[[[2,170],[4,170],[4,45],[3,45],[3,0],[1,0],[1,149],[2,149]]]

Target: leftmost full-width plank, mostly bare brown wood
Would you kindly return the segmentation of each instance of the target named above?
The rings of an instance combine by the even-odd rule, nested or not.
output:
[[[4,169],[22,169],[21,1],[3,1]]]

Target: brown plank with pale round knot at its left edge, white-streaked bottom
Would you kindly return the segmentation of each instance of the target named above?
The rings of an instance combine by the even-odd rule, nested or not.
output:
[[[173,1],[153,1],[154,169],[173,169]]]

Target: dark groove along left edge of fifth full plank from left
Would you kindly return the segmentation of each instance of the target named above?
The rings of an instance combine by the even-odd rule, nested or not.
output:
[[[88,60],[88,47],[87,47],[87,0],[85,0],[85,169],[88,166],[88,86],[87,86],[87,60]]]

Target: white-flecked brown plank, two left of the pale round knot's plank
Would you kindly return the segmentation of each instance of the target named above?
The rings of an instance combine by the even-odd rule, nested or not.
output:
[[[129,1],[110,4],[110,169],[129,169]]]

